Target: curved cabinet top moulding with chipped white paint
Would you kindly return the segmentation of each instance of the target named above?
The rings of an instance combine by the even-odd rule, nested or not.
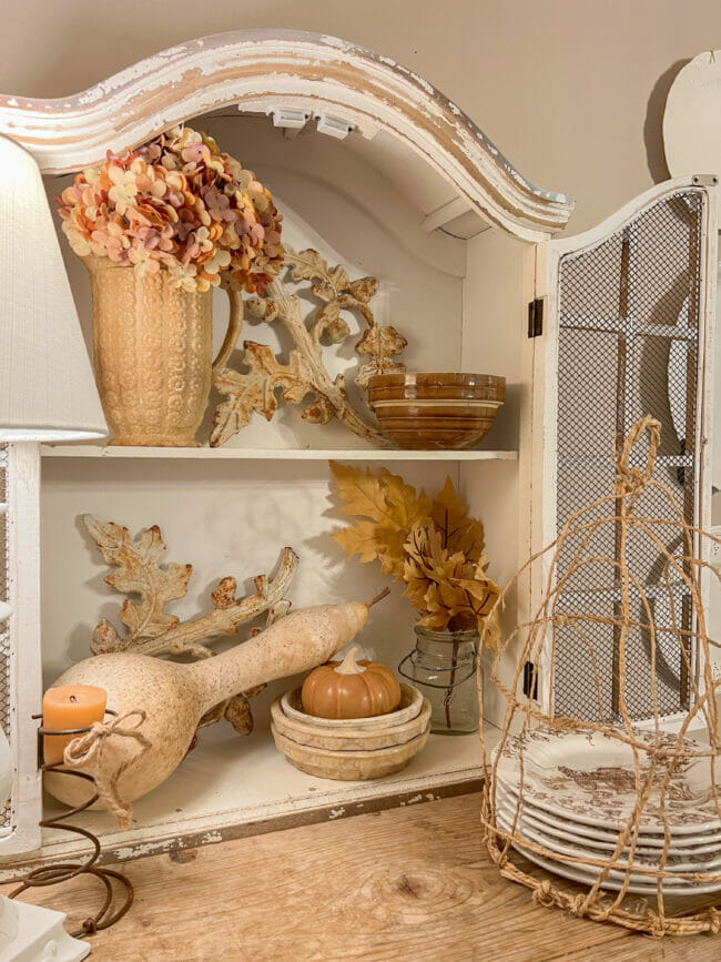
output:
[[[424,226],[467,212],[527,241],[562,229],[573,209],[565,194],[532,186],[464,112],[423,78],[355,44],[292,30],[238,30],[173,47],[73,97],[0,97],[0,133],[19,141],[43,173],[68,173],[135,146],[162,130],[237,104],[244,113],[321,118],[322,132],[377,138],[420,156],[445,202],[423,210]],[[282,118],[281,118],[282,119]],[[382,159],[383,161],[383,159]],[[407,181],[408,173],[405,171]],[[440,194],[439,194],[440,195]],[[427,206],[427,204],[426,204]]]

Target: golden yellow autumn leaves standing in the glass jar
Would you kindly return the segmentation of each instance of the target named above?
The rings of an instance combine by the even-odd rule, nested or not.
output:
[[[468,515],[453,482],[429,498],[398,475],[378,476],[331,463],[343,513],[358,520],[334,534],[348,555],[380,561],[380,569],[405,581],[405,595],[433,630],[483,630],[500,590],[486,575],[484,527]],[[486,644],[495,647],[492,626]]]

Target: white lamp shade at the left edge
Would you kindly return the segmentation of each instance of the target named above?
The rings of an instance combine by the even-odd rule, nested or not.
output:
[[[0,136],[0,442],[106,434],[38,164]]]

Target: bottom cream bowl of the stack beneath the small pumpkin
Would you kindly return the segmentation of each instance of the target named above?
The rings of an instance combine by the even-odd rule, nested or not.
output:
[[[332,751],[292,741],[271,725],[275,747],[291,764],[317,778],[337,781],[368,781],[404,769],[428,741],[429,729],[405,745],[377,748],[373,751]]]

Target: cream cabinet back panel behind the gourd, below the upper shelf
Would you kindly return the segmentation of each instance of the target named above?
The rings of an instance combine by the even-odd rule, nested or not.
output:
[[[388,467],[428,492],[443,487],[449,469],[435,463],[389,463]],[[457,482],[457,469],[451,470]],[[347,558],[333,539],[332,533],[349,519],[341,515],[329,482],[325,462],[179,465],[47,458],[41,503],[45,685],[90,655],[92,630],[101,618],[122,627],[118,610],[124,596],[103,581],[108,568],[80,520],[84,513],[124,525],[133,536],[143,527],[160,526],[167,546],[163,560],[193,565],[186,597],[169,605],[182,619],[207,611],[211,591],[226,575],[237,578],[238,593],[252,593],[253,577],[271,573],[285,545],[301,557],[288,593],[294,609],[369,600],[388,579],[377,564]],[[414,608],[394,585],[392,596],[373,609],[358,644],[395,668],[415,642],[415,620]],[[242,626],[237,637],[219,639],[212,647],[220,651],[248,635],[250,627]],[[254,699],[260,726],[267,723],[272,697],[290,683],[276,682]]]

